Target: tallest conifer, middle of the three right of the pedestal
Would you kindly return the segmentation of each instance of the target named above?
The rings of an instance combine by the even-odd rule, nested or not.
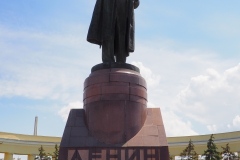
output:
[[[210,139],[207,142],[207,150],[204,151],[203,155],[206,156],[206,160],[220,160],[219,152],[217,151],[217,146],[214,143],[213,134],[210,136]]]

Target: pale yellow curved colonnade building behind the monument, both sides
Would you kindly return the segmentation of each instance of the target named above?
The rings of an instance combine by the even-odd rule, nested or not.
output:
[[[219,152],[222,151],[221,146],[226,146],[229,143],[231,151],[240,155],[240,131],[214,134],[214,137]],[[186,148],[190,139],[195,146],[195,151],[201,155],[206,150],[209,138],[210,135],[168,137],[170,155],[178,156]],[[4,160],[12,160],[13,154],[27,155],[28,160],[34,160],[41,145],[46,153],[53,153],[54,146],[59,145],[60,141],[61,137],[0,132],[0,153],[5,154]]]

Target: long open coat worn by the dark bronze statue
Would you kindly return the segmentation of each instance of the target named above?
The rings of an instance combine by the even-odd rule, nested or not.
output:
[[[115,28],[115,3],[116,0],[97,0],[93,11],[92,21],[88,30],[87,41],[102,45],[103,40],[113,36]],[[134,52],[134,8],[137,8],[139,1],[127,0],[127,33],[126,48]],[[128,55],[127,55],[128,56]]]

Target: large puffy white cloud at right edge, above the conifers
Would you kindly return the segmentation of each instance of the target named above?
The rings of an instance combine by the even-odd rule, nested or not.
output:
[[[179,93],[175,110],[206,125],[211,132],[223,131],[229,128],[240,107],[239,81],[240,64],[223,72],[208,69],[204,75],[191,78],[190,84]],[[233,125],[238,122],[237,116]]]

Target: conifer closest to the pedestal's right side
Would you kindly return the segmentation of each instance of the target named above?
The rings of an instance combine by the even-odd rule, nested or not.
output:
[[[198,154],[194,150],[194,145],[192,143],[192,140],[190,139],[188,146],[180,153],[181,159],[187,159],[187,160],[192,160],[192,159],[198,159]]]

